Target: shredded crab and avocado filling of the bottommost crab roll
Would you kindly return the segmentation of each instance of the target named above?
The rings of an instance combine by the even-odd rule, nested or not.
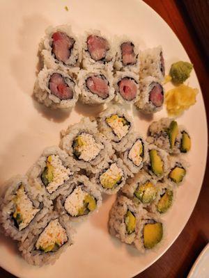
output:
[[[56,252],[67,241],[68,236],[59,220],[51,220],[36,241],[36,250],[45,253]]]

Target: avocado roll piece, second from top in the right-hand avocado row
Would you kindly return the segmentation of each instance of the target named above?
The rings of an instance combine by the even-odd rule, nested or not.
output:
[[[188,163],[180,157],[169,157],[170,171],[167,176],[172,186],[180,186],[185,181]]]

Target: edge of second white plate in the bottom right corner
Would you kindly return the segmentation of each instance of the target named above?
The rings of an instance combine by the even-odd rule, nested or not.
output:
[[[189,271],[187,278],[208,278],[209,275],[209,243],[203,249],[196,259],[192,269]]]

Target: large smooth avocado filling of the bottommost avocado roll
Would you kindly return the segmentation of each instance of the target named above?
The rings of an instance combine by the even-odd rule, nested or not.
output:
[[[162,240],[162,235],[162,223],[152,221],[151,223],[145,224],[143,229],[144,247],[146,249],[155,247]]]

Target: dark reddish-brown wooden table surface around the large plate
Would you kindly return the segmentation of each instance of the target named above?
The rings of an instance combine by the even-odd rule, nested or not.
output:
[[[208,68],[206,56],[201,51],[199,38],[186,13],[181,0],[144,0],[153,8],[166,22],[182,42],[190,60],[194,64],[196,75],[198,76],[203,98],[206,104],[206,111],[209,108],[209,88]],[[193,0],[199,2],[206,0]],[[208,117],[207,111],[207,117]],[[209,241],[209,161],[206,167],[206,175],[201,188],[199,199],[196,203],[192,216],[178,239],[173,243],[169,250],[147,270],[137,275],[135,278],[172,278],[187,277],[194,261]],[[15,278],[0,268],[0,278]]]

